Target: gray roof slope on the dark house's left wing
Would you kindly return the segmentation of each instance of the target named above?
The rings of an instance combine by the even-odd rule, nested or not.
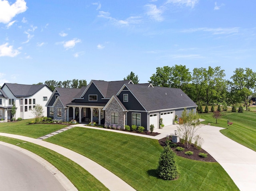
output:
[[[77,88],[56,88],[56,90],[60,94],[59,98],[64,106],[70,103],[73,98],[81,91],[81,89]]]

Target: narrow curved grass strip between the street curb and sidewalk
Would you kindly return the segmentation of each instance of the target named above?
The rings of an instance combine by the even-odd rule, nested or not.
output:
[[[100,181],[92,176],[88,171],[82,168],[74,161],[42,146],[32,144],[30,142],[0,136],[0,141],[8,142],[10,144],[18,144],[21,148],[29,150],[38,156],[49,161],[57,169],[59,169],[79,191],[105,191],[108,190]]]

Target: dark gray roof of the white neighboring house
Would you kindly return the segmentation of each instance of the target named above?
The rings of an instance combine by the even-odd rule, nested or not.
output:
[[[15,97],[32,96],[45,86],[49,89],[49,87],[47,85],[43,85],[43,84],[40,84],[40,85],[24,85],[24,84],[4,83],[4,85],[2,86],[1,89],[3,89],[4,86],[7,86],[8,89],[10,89],[10,91],[12,92],[12,94]]]

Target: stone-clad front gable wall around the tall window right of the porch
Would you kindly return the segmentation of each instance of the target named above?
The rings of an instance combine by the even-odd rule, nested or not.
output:
[[[124,129],[126,124],[126,112],[122,110],[122,107],[118,104],[118,102],[113,99],[112,102],[108,105],[105,110],[105,123],[111,124],[111,112],[118,112],[118,125],[121,126],[121,129]]]

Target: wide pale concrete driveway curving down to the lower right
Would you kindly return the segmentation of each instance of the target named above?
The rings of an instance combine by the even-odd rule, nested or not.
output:
[[[241,191],[256,191],[256,152],[227,138],[221,129],[224,128],[202,125],[197,131],[204,139],[202,148],[222,165]],[[172,134],[174,130],[177,125],[155,132]]]

